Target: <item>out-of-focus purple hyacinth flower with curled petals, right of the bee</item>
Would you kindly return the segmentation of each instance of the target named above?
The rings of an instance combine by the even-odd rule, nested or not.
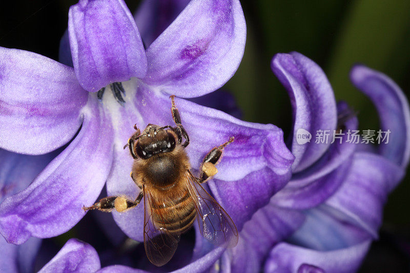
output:
[[[329,81],[312,60],[295,52],[277,54],[272,70],[293,107],[292,179],[244,224],[238,246],[222,254],[218,268],[353,272],[378,238],[383,204],[408,164],[408,102],[393,80],[357,65],[351,80],[375,104],[381,130],[391,131],[388,143],[350,143],[344,134],[334,143],[298,144],[301,128],[314,138],[317,130],[356,130],[358,120],[345,102],[336,104]]]

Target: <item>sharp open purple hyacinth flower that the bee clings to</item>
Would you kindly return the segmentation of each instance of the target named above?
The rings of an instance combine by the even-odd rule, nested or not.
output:
[[[214,146],[235,137],[210,191],[238,230],[289,181],[294,156],[280,129],[183,99],[218,89],[236,71],[245,43],[238,1],[191,1],[146,50],[123,1],[80,1],[70,8],[68,37],[73,68],[0,49],[0,147],[44,154],[71,141],[29,187],[0,205],[0,233],[8,242],[66,232],[106,182],[108,195],[136,198],[133,159],[123,147],[135,123],[142,129],[173,125],[170,95],[177,96],[190,136],[194,169]],[[144,206],[113,216],[142,241]],[[202,257],[198,268],[212,265],[222,251]]]

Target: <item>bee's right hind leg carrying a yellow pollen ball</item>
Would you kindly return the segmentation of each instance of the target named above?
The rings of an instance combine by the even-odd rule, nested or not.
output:
[[[218,169],[216,169],[216,164],[219,163],[221,159],[223,148],[234,141],[234,137],[230,137],[229,140],[222,145],[213,148],[202,160],[202,164],[199,168],[199,183],[205,182],[208,178],[216,175]]]

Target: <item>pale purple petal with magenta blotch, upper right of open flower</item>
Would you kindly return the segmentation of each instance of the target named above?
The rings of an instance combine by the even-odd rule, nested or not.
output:
[[[147,49],[144,81],[180,97],[210,93],[237,70],[245,36],[238,0],[193,0]]]

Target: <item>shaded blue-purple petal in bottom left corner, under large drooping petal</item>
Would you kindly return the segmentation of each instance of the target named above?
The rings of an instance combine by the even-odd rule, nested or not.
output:
[[[30,238],[22,245],[9,244],[0,236],[0,271],[3,272],[33,272],[34,258],[40,247],[41,239]]]

